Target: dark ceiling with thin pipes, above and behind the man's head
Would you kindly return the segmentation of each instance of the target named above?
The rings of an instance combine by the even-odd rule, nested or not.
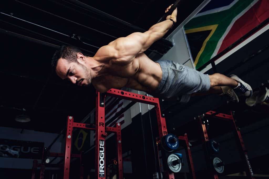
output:
[[[81,121],[95,107],[95,90],[61,81],[51,72],[55,49],[72,44],[92,56],[115,38],[150,28],[173,2],[1,1],[0,126],[58,133],[68,115]],[[177,25],[201,2],[182,0]],[[161,39],[147,54],[164,54],[171,47]],[[16,122],[20,114],[29,115],[31,122]]]

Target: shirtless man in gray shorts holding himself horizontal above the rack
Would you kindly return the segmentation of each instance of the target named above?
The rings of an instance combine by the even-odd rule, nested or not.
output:
[[[79,86],[93,84],[101,93],[129,87],[182,103],[197,94],[227,94],[235,102],[239,94],[251,96],[250,85],[236,75],[206,75],[173,61],[154,62],[143,53],[176,23],[176,16],[177,9],[144,33],[135,32],[102,46],[93,57],[76,47],[61,46],[52,58],[52,67],[60,78]]]

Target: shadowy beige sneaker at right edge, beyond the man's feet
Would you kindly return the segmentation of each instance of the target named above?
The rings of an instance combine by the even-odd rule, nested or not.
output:
[[[263,102],[269,103],[269,89],[267,87],[260,91],[255,91],[252,97],[246,99],[246,104],[250,107]]]

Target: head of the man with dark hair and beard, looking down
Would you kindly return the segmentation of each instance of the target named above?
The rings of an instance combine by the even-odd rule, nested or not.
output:
[[[54,53],[51,65],[62,79],[80,86],[91,84],[91,70],[87,67],[86,57],[77,47],[61,46]]]

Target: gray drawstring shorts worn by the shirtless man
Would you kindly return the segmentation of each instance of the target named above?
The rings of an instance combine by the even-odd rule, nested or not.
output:
[[[154,92],[163,99],[177,98],[181,103],[187,103],[190,95],[196,92],[206,92],[210,88],[210,79],[193,68],[168,60],[156,61],[162,68],[161,82]]]

